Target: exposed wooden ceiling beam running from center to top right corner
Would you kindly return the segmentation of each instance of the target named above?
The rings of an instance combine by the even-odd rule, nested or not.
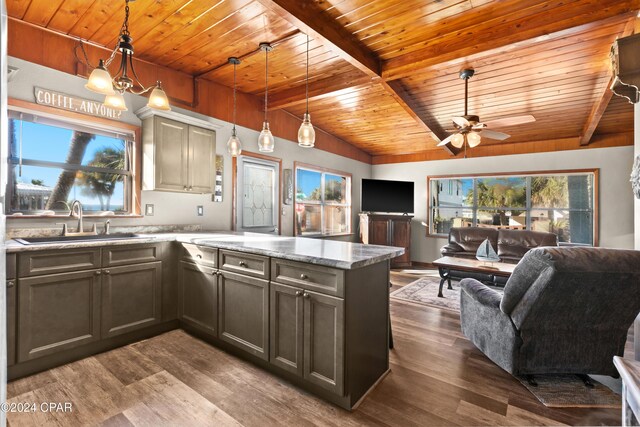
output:
[[[594,21],[630,14],[640,9],[639,0],[600,0],[580,7],[576,14],[573,5],[555,8],[553,13],[527,16],[519,21],[507,21],[504,17],[469,28],[443,34],[425,42],[425,47],[401,55],[382,64],[382,78],[396,80],[408,77],[416,70],[464,58],[478,52],[498,49],[516,43],[536,43],[550,33],[571,31]],[[443,41],[443,39],[451,39]]]

